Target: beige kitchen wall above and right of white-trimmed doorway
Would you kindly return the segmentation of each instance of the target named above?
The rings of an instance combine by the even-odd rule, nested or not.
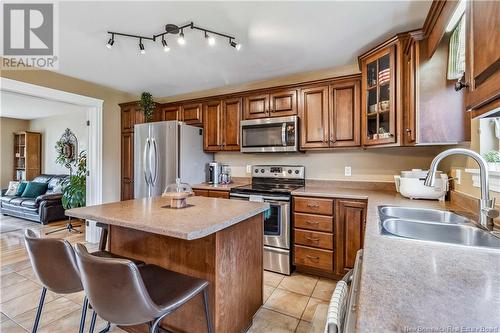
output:
[[[137,96],[50,71],[1,71],[0,76],[104,100],[103,201],[120,200],[120,107],[118,103],[137,100]]]

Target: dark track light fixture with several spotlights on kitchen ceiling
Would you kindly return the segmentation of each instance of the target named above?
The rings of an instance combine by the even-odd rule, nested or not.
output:
[[[150,41],[156,42],[156,39],[158,37],[161,37],[161,44],[163,46],[163,51],[168,52],[168,51],[170,51],[170,47],[168,46],[167,41],[165,40],[165,35],[168,35],[168,34],[177,35],[178,34],[177,43],[179,43],[179,45],[184,45],[184,44],[186,44],[186,39],[184,37],[184,29],[187,29],[187,28],[191,28],[192,30],[202,31],[205,34],[205,39],[207,40],[208,45],[210,45],[210,46],[215,45],[215,43],[216,43],[215,35],[217,35],[217,36],[229,39],[229,45],[234,47],[236,50],[239,51],[241,49],[241,44],[234,41],[236,37],[226,35],[226,34],[223,34],[220,32],[216,32],[213,30],[208,30],[208,29],[197,27],[194,25],[193,22],[190,22],[190,23],[185,24],[183,26],[177,26],[175,24],[167,24],[167,25],[165,25],[165,32],[159,33],[157,35],[153,35],[153,37],[125,34],[125,33],[115,32],[115,31],[108,31],[108,34],[110,34],[111,37],[108,40],[106,47],[108,49],[111,49],[113,47],[113,44],[115,42],[115,35],[121,36],[121,37],[137,38],[137,39],[139,39],[139,50],[140,50],[141,54],[145,54],[146,50],[144,48],[144,44],[142,43],[142,40],[144,39],[144,40],[150,40]]]

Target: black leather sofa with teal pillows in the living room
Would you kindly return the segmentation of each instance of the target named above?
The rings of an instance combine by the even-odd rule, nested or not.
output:
[[[47,183],[47,191],[36,198],[24,198],[16,195],[5,195],[7,189],[2,189],[0,196],[0,212],[3,215],[10,215],[27,219],[42,224],[66,218],[62,206],[60,192],[60,182],[64,181],[67,175],[43,174],[35,177],[32,181]]]

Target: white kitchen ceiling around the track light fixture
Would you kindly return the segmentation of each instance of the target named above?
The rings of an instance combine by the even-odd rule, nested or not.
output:
[[[341,2],[60,2],[60,68],[63,74],[126,92],[165,97],[350,65],[369,47],[397,32],[422,26],[430,1]],[[116,38],[114,30],[152,35],[166,23],[196,25],[232,34],[238,52],[218,39],[209,47],[199,31],[173,36],[171,51],[145,41]]]

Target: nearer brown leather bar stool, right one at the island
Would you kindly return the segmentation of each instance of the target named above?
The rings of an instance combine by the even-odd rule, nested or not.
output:
[[[130,260],[92,256],[82,244],[75,246],[83,289],[97,314],[113,324],[148,323],[149,332],[160,321],[199,293],[207,331],[212,332],[208,306],[208,281],[172,272],[156,265],[136,266]],[[93,333],[95,320],[90,325]]]

